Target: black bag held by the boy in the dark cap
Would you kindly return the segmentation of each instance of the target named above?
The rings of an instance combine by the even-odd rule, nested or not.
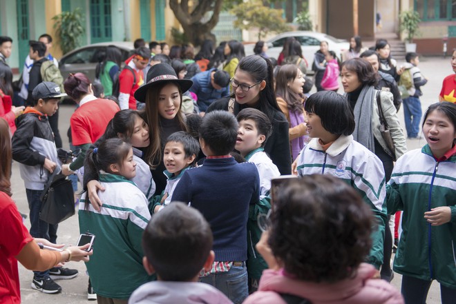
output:
[[[64,174],[57,174],[57,169],[49,177],[40,199],[39,219],[46,223],[57,225],[75,214],[73,185]]]

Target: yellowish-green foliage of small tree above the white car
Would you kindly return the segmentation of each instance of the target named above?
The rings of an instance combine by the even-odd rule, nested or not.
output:
[[[283,10],[269,8],[263,5],[263,1],[252,0],[240,3],[231,10],[238,18],[234,26],[241,30],[258,28],[258,40],[268,32],[286,32],[289,26],[282,18]]]

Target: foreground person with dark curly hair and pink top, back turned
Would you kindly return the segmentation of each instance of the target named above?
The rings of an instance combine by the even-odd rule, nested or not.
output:
[[[269,220],[256,245],[269,270],[245,304],[403,303],[395,287],[374,279],[374,267],[363,263],[374,219],[345,181],[321,174],[284,181]]]

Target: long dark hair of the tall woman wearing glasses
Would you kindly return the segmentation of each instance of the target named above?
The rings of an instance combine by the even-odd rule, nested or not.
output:
[[[239,61],[236,70],[243,70],[250,74],[254,82],[266,81],[266,86],[260,90],[259,109],[265,113],[272,123],[276,121],[274,114],[276,111],[282,112],[278,108],[276,93],[274,91],[274,71],[272,63],[268,59],[259,55],[250,55]]]

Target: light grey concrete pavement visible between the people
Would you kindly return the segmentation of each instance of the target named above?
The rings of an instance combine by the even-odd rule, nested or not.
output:
[[[437,57],[430,57],[420,59],[421,63],[419,65],[419,68],[421,68],[421,72],[424,74],[424,76],[429,79],[428,84],[423,87],[424,96],[421,98],[423,112],[425,112],[426,108],[428,108],[428,105],[439,100],[438,95],[441,88],[441,82],[448,74],[453,74],[453,70],[451,69],[450,59],[448,58],[442,59]],[[399,60],[399,64],[400,63],[401,60]],[[342,90],[339,90],[339,92],[342,93]],[[73,105],[62,105],[60,108],[59,130],[62,136],[62,140],[64,141],[64,148],[68,148],[68,137],[66,136],[66,131],[68,130],[70,116],[74,110],[75,106]],[[404,125],[402,108],[399,110],[398,115],[401,124]],[[424,139],[414,139],[408,140],[407,146],[409,150],[412,150],[421,147],[425,143],[426,141]],[[23,187],[21,176],[19,175],[19,165],[17,162],[13,162],[12,165],[12,192],[12,198],[17,203],[19,211],[24,214],[28,214],[29,210],[26,199],[26,192],[25,188]],[[28,219],[26,219],[25,225],[30,228],[30,221],[28,221]],[[67,219],[59,225],[58,236],[59,243],[75,245],[79,236],[77,215],[70,217],[70,219]],[[37,292],[36,290],[32,290],[30,287],[30,283],[32,281],[32,272],[26,270],[22,265],[19,265],[22,303],[88,303],[86,300],[88,276],[85,274],[84,263],[70,262],[67,263],[66,267],[79,270],[79,275],[72,280],[57,281],[57,283],[62,287],[62,292],[60,294],[44,294]],[[395,278],[392,281],[392,284],[400,290],[401,276],[399,274],[395,274]],[[440,303],[440,292],[437,282],[434,282],[430,288],[427,303]]]

